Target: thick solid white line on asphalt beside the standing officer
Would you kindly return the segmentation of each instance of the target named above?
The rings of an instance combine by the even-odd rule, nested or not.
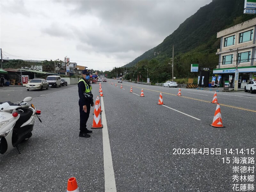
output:
[[[102,118],[102,140],[103,140],[103,159],[104,159],[104,175],[105,175],[105,191],[106,192],[116,192],[116,180],[115,173],[113,169],[112,156],[110,143],[108,138],[108,126],[107,119],[105,115],[105,108],[103,97],[101,97],[101,118]]]

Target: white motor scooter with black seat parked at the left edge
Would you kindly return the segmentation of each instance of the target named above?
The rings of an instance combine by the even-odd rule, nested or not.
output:
[[[26,97],[19,104],[10,101],[0,102],[0,153],[4,154],[17,148],[19,144],[32,136],[35,116],[41,111],[36,110],[33,104],[28,105],[32,97]],[[39,121],[41,119],[37,116]]]

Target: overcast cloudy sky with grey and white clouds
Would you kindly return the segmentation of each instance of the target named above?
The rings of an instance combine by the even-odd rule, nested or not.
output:
[[[121,67],[212,0],[1,0],[3,58]]]

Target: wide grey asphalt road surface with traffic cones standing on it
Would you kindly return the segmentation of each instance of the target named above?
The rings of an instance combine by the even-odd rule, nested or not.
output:
[[[18,89],[10,92],[12,96],[1,92],[1,98],[14,98],[13,102],[23,99],[19,96],[35,94],[31,102],[42,110],[43,123],[36,121],[32,137],[21,146],[21,154],[14,149],[0,156],[0,191],[66,191],[70,177],[76,177],[80,192],[115,188],[132,192],[233,191],[232,184],[255,185],[255,181],[234,182],[232,169],[255,166],[236,164],[233,159],[255,158],[251,148],[256,148],[256,94],[218,92],[226,127],[214,128],[209,125],[216,109],[211,103],[213,91],[181,89],[179,97],[179,88],[123,82],[120,89],[117,80],[111,81],[114,85],[101,83],[103,129],[93,129],[90,138],[78,137],[76,85],[26,94]],[[131,86],[135,94],[130,93]],[[94,97],[99,95],[99,84],[92,84],[92,88]],[[142,88],[145,97],[139,96]],[[157,105],[160,92],[164,106]],[[92,121],[93,115],[87,126]],[[103,150],[108,146],[106,134],[111,153]],[[231,148],[232,154],[226,154],[225,149]],[[200,149],[205,154],[200,154]],[[244,154],[240,149],[245,149]],[[110,162],[106,161],[109,155]],[[223,163],[222,158],[226,162],[227,157],[229,164]],[[106,177],[111,177],[111,166],[114,180]]]

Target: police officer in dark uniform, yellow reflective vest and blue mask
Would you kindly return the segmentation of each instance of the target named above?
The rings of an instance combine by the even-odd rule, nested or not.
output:
[[[92,133],[91,130],[86,128],[86,122],[90,115],[90,108],[93,107],[93,95],[92,86],[89,82],[90,71],[85,69],[82,71],[83,78],[78,82],[78,94],[79,94],[79,112],[80,112],[80,133],[79,137],[91,137],[88,133]]]

